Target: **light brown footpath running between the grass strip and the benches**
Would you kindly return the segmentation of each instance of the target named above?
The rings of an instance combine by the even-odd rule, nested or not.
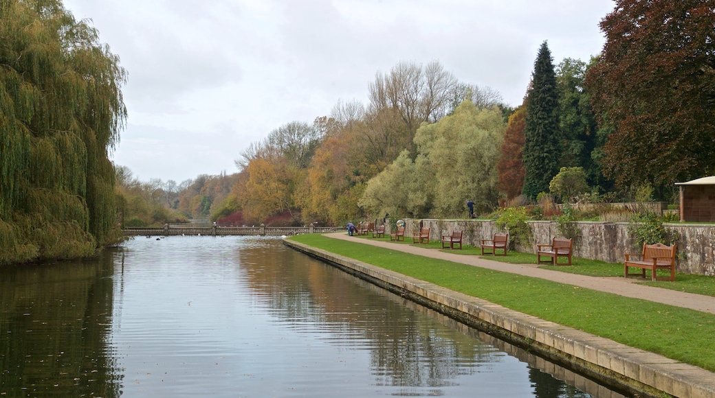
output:
[[[638,278],[626,279],[625,277],[591,277],[586,275],[576,275],[568,272],[544,270],[541,267],[537,267],[536,264],[509,264],[507,262],[485,260],[477,255],[460,255],[453,254],[451,252],[443,252],[442,250],[435,248],[422,248],[417,245],[405,245],[403,243],[392,243],[390,241],[371,238],[357,238],[349,236],[347,233],[327,233],[325,236],[335,239],[350,240],[357,243],[365,243],[366,245],[374,245],[381,248],[390,248],[392,250],[413,253],[424,257],[461,262],[463,264],[488,268],[490,270],[512,272],[519,275],[553,280],[554,282],[585,287],[624,297],[634,297],[642,300],[661,302],[668,305],[674,305],[676,307],[690,308],[692,310],[715,314],[715,297],[696,295],[693,293],[679,292],[677,290],[633,283],[633,281],[641,280]]]

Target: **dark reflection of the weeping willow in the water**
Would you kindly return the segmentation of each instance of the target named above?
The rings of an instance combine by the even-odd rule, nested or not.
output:
[[[3,397],[119,397],[108,345],[114,254],[0,270]]]

